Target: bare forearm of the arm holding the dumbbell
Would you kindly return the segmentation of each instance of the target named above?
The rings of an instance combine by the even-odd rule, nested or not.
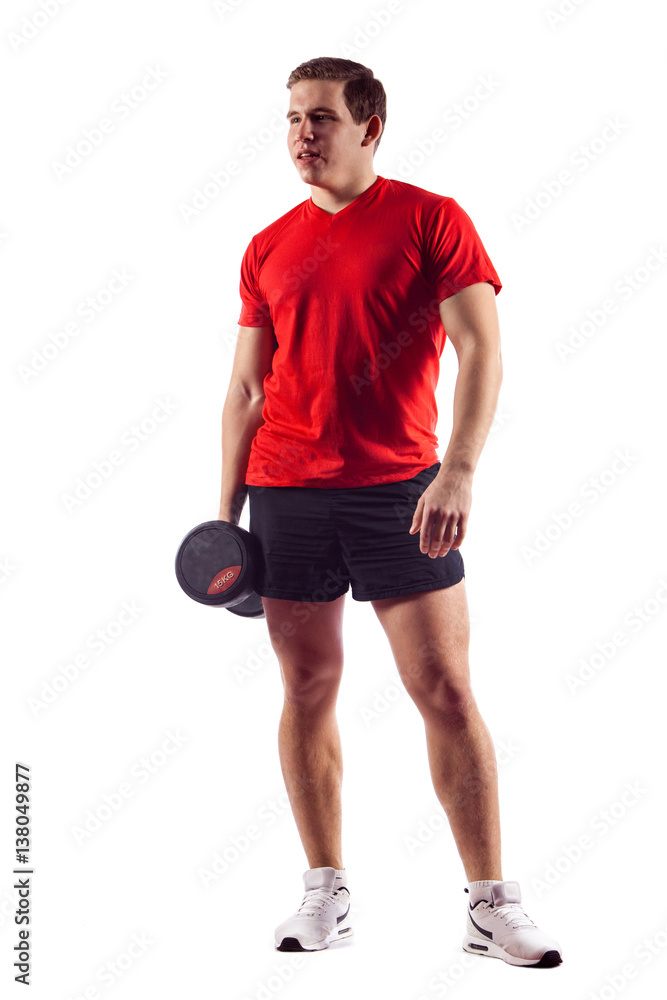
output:
[[[230,389],[222,410],[221,520],[238,524],[248,493],[245,484],[250,448],[264,423],[264,397],[251,399],[242,389]]]

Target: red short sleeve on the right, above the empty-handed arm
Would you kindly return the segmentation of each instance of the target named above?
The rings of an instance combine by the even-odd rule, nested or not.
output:
[[[444,198],[426,222],[423,254],[438,302],[478,281],[491,282],[496,295],[502,288],[470,216],[453,198]]]

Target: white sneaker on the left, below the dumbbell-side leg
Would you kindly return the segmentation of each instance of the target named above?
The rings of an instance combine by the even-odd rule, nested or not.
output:
[[[276,928],[278,951],[321,951],[352,934],[350,892],[336,885],[335,868],[309,868],[303,873],[305,895],[296,913]]]

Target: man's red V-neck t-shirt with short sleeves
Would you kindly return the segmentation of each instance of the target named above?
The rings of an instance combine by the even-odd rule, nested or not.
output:
[[[438,303],[501,283],[469,216],[378,176],[331,215],[312,198],[251,239],[240,326],[273,326],[246,484],[372,486],[439,461]]]

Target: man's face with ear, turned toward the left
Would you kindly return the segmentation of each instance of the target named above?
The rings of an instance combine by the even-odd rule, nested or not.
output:
[[[343,80],[300,80],[291,89],[287,146],[306,184],[342,185],[350,176],[372,169],[378,133],[365,136],[368,126],[379,125],[380,119],[374,115],[355,125],[343,100],[344,86]],[[317,155],[300,157],[304,152]]]

